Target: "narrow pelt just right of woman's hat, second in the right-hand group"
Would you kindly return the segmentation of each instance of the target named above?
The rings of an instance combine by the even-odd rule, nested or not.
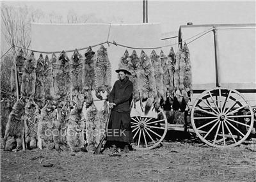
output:
[[[128,64],[128,70],[131,72],[131,82],[133,83],[133,102],[134,108],[136,108],[136,102],[140,100],[139,88],[138,88],[138,68],[140,66],[140,59],[137,56],[136,50],[133,50],[130,56],[131,61]]]

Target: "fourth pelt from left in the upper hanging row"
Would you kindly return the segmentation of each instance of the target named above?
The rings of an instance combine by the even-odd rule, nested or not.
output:
[[[55,54],[52,54],[51,61],[56,62]],[[53,77],[52,77],[52,63],[49,60],[48,56],[45,56],[44,63],[44,91],[45,91],[45,99],[52,100],[55,98],[54,96],[54,87],[53,87]]]

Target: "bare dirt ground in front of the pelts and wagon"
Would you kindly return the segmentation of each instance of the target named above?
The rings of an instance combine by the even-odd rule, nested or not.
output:
[[[1,150],[1,181],[256,181],[256,144],[218,149],[163,142],[157,149],[114,155]]]

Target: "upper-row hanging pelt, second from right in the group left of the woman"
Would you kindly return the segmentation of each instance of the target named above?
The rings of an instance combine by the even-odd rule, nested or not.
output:
[[[83,61],[83,90],[86,95],[86,107],[92,105],[92,89],[95,88],[95,64],[96,54],[89,47],[84,54]]]

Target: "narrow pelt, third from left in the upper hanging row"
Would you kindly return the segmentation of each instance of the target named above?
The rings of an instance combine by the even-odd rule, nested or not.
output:
[[[36,64],[35,102],[42,109],[44,107],[44,57],[40,54]]]

